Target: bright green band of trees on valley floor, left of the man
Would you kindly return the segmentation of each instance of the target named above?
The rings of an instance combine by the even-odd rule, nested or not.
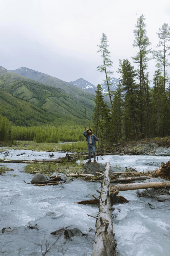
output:
[[[49,124],[42,126],[14,126],[6,116],[0,116],[0,141],[14,143],[16,140],[35,141],[37,143],[57,143],[59,141],[82,141],[83,125],[75,121],[68,124]]]

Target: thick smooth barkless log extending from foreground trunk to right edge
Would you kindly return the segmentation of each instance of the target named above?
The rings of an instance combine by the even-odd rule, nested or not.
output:
[[[170,182],[146,182],[146,183],[129,183],[129,184],[117,184],[110,187],[110,192],[126,191],[136,189],[148,189],[148,188],[164,188],[170,187]]]

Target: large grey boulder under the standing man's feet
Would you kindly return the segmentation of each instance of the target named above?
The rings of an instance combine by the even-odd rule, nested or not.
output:
[[[86,162],[82,168],[82,172],[88,173],[88,174],[95,174],[96,172],[104,173],[105,167],[106,167],[106,164],[103,164],[103,163]],[[118,170],[111,166],[110,172],[121,172],[121,170]]]

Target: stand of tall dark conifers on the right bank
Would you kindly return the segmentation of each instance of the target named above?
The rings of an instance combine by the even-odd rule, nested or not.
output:
[[[138,68],[135,70],[127,59],[120,60],[120,83],[115,92],[109,89],[113,62],[110,60],[107,37],[102,34],[98,52],[102,53],[103,63],[97,70],[106,75],[111,108],[104,102],[102,88],[98,85],[92,125],[93,132],[102,139],[102,145],[170,135],[170,78],[166,71],[170,66],[170,26],[164,23],[157,34],[157,50],[152,50],[145,17],[141,15],[137,19],[132,59]],[[151,59],[156,61],[152,81],[147,72]]]

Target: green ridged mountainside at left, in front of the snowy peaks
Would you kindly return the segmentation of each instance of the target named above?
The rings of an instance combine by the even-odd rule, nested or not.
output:
[[[77,97],[77,96],[76,96]],[[91,120],[94,101],[91,97],[76,100],[70,93],[21,77],[0,67],[0,104],[3,115],[19,126],[33,126],[40,123],[75,119],[82,124]]]

